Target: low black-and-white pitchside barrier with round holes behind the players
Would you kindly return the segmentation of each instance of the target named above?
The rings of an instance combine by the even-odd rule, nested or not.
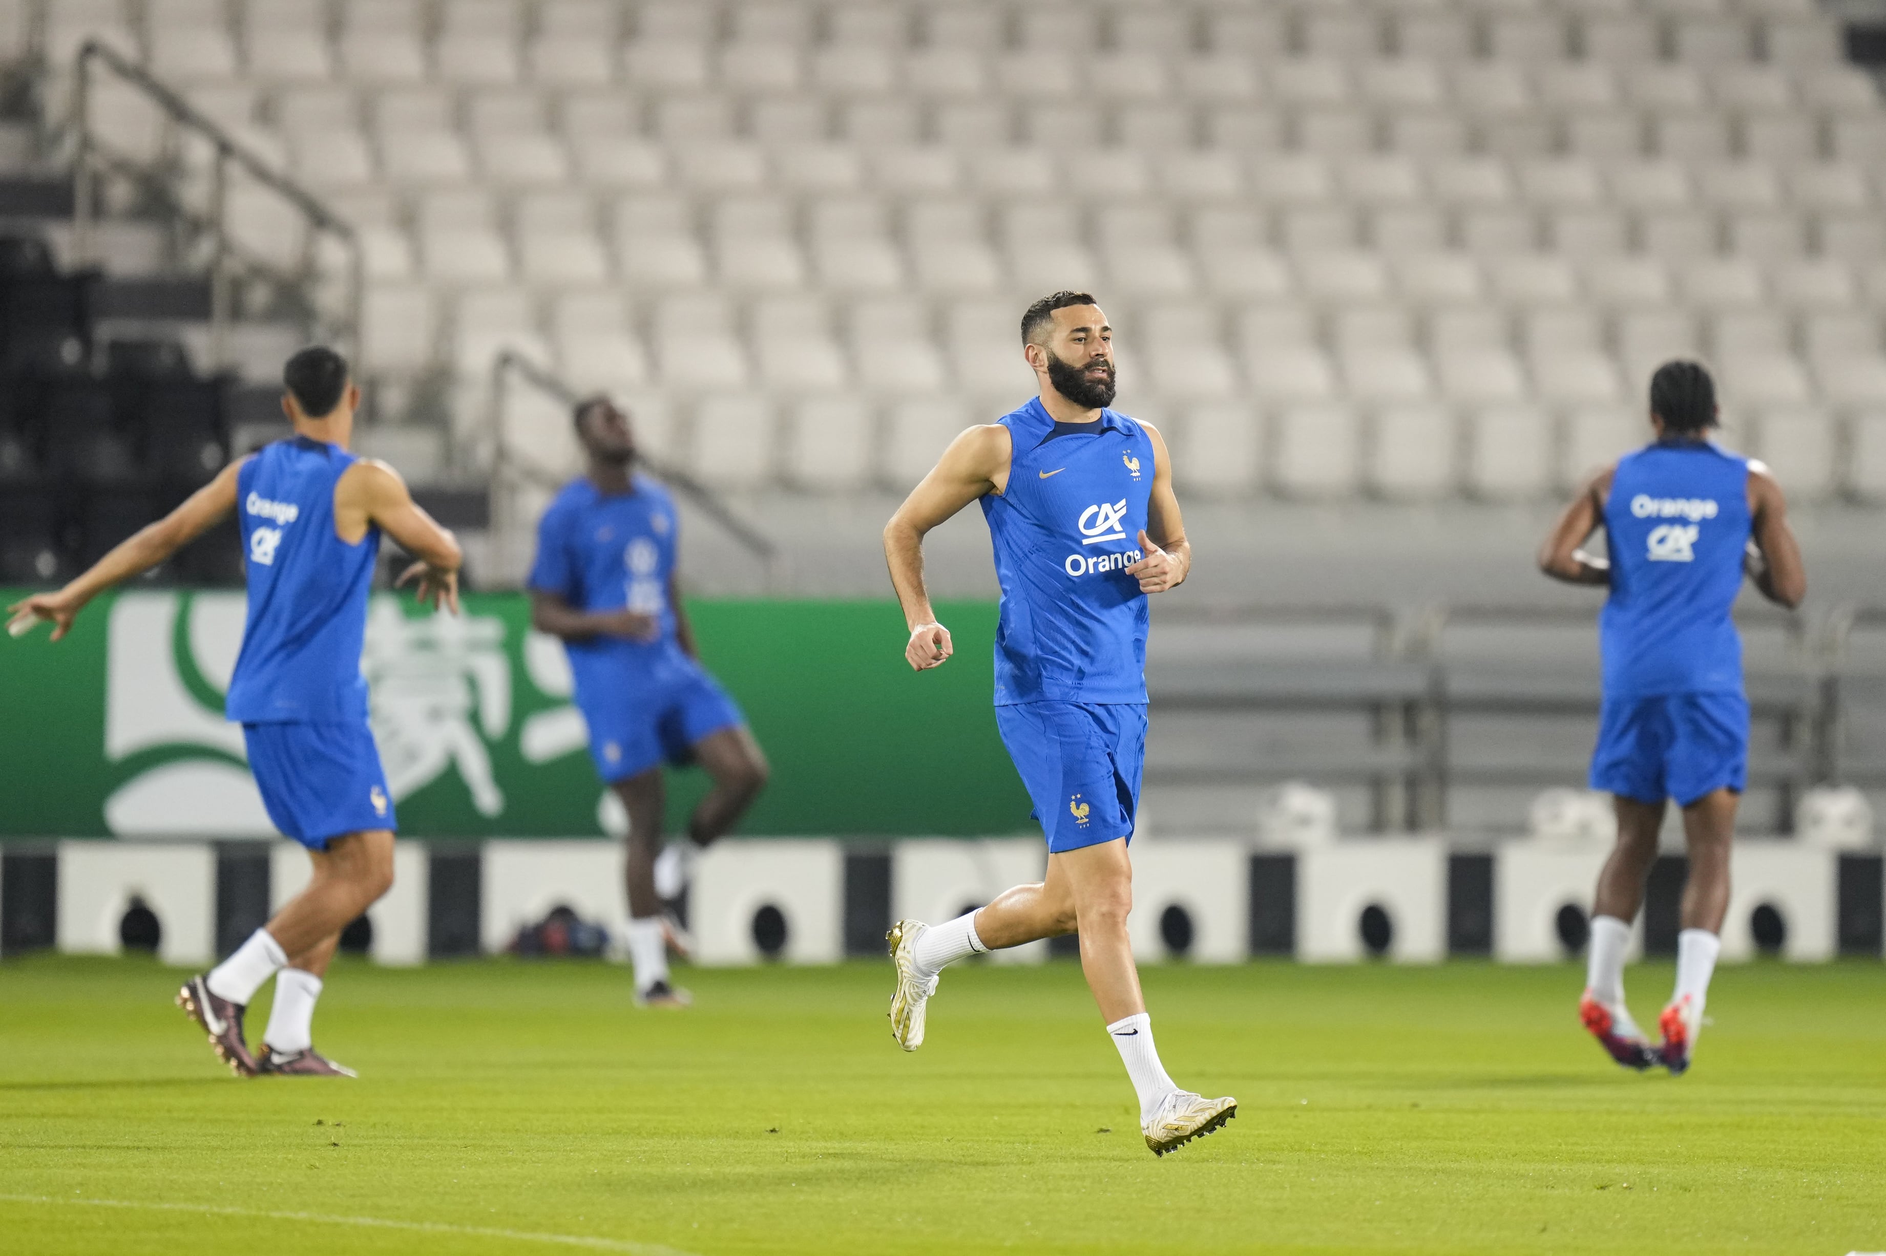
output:
[[[1452,849],[1439,837],[1360,837],[1252,849],[1226,837],[1133,843],[1133,950],[1143,960],[1554,962],[1586,937],[1596,843],[1520,839]],[[1746,839],[1724,956],[1828,960],[1882,954],[1886,862],[1801,841]],[[402,841],[396,884],[347,935],[383,964],[502,952],[558,907],[622,939],[622,847],[607,839]],[[952,917],[1039,879],[1039,839],[832,839],[717,843],[698,864],[687,917],[703,964],[830,964],[883,954],[898,917]],[[1675,954],[1680,856],[1662,856],[1637,954]],[[79,954],[155,949],[204,964],[234,949],[302,886],[287,843],[60,841],[0,858],[0,950]],[[1035,943],[1000,962],[1041,962]]]

